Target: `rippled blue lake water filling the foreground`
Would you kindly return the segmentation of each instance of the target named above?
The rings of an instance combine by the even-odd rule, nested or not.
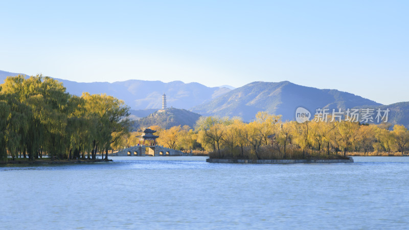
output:
[[[111,158],[0,167],[0,228],[409,228],[409,157],[289,165]]]

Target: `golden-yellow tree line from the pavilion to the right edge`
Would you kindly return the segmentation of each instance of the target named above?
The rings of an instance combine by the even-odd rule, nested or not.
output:
[[[250,123],[239,118],[201,117],[195,129],[153,128],[158,128],[160,145],[183,151],[203,149],[215,158],[339,158],[347,157],[348,152],[403,154],[409,149],[409,131],[403,125],[390,130],[388,123],[282,122],[281,116],[266,112],[259,112]],[[134,140],[138,134],[134,133]]]

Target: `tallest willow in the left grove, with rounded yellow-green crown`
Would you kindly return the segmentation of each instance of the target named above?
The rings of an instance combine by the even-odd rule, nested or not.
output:
[[[46,149],[51,156],[62,158],[66,154],[66,109],[70,94],[61,82],[50,77],[30,77],[24,82],[25,102],[33,111],[29,138],[37,136],[35,143],[28,142],[30,158]],[[29,147],[30,146],[30,147]]]

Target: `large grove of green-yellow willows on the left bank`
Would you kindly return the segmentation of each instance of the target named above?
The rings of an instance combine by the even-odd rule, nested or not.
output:
[[[81,97],[41,75],[8,77],[0,85],[0,159],[44,155],[96,158],[129,132],[129,108],[107,95]]]

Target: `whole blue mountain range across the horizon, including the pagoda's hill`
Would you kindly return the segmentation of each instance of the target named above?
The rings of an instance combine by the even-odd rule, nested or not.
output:
[[[0,71],[0,80],[15,73]],[[173,81],[128,80],[120,82],[81,83],[61,81],[70,94],[81,95],[106,93],[125,101],[131,107],[131,118],[138,120],[162,107],[162,95],[167,95],[168,107],[187,109],[202,116],[239,116],[252,121],[258,111],[281,114],[283,120],[294,120],[298,107],[312,114],[317,108],[389,108],[389,120],[393,124],[409,127],[409,102],[382,105],[336,89],[318,89],[283,82],[252,82],[234,88],[232,86],[207,87],[199,83]],[[190,116],[185,114],[186,116]],[[184,115],[184,116],[185,116]],[[182,116],[183,117],[183,116]],[[190,126],[190,125],[189,125]],[[191,126],[192,127],[192,126]]]

